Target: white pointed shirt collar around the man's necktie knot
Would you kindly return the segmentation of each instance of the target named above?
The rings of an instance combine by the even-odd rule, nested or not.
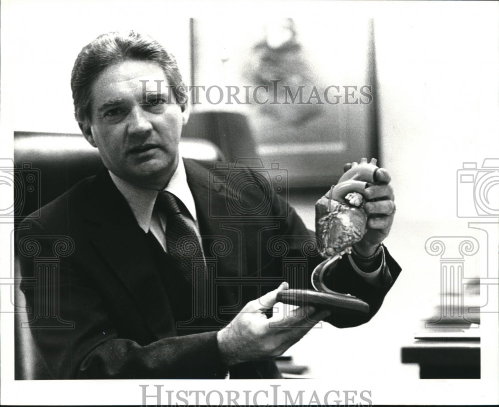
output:
[[[128,202],[128,205],[132,209],[140,228],[147,233],[151,227],[154,204],[159,192],[154,189],[143,188],[125,181],[124,179],[113,174],[111,171],[109,171],[109,175],[116,185],[116,188],[118,188]],[[198,221],[196,215],[196,204],[194,203],[194,198],[187,183],[187,175],[182,157],[180,157],[177,169],[173,173],[172,178],[164,191],[168,191],[180,199],[188,209],[189,214],[194,221]]]

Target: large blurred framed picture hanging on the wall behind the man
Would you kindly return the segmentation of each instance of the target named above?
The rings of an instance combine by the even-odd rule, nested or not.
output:
[[[330,19],[192,20],[193,111],[246,114],[256,156],[290,187],[327,187],[345,162],[379,158],[372,20]]]

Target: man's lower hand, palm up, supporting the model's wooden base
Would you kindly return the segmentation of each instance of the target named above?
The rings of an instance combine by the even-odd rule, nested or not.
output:
[[[282,283],[276,290],[250,301],[227,327],[219,331],[220,352],[228,366],[282,355],[330,314],[306,307],[305,312],[297,308],[284,317],[267,318],[265,311],[277,302],[277,293],[287,288],[287,283]]]

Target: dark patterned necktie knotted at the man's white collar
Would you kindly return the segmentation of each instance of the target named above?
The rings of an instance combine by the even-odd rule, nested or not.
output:
[[[156,206],[166,215],[166,247],[176,268],[187,281],[199,286],[206,278],[206,270],[198,236],[182,217],[174,195],[163,191],[156,198]]]

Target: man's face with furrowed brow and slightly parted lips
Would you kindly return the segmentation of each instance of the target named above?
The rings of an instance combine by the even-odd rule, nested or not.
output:
[[[155,62],[126,60],[108,66],[91,88],[91,122],[81,126],[111,172],[147,188],[162,189],[173,175],[188,118],[168,86]]]

